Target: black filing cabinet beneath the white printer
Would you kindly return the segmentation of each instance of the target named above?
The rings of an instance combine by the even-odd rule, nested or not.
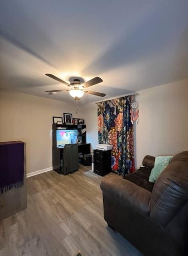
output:
[[[104,176],[111,171],[111,150],[94,149],[94,173]]]

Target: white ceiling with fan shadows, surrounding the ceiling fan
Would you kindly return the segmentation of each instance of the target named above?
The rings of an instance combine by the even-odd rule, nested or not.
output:
[[[188,78],[188,1],[1,0],[0,48],[2,89],[74,102],[44,74],[100,76],[116,97]]]

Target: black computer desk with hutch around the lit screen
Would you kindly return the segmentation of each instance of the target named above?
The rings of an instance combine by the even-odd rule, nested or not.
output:
[[[80,140],[80,144],[78,144],[78,153],[90,154],[90,143],[86,143],[86,132],[81,134],[81,130],[86,128],[86,125],[67,125],[67,124],[52,124],[52,166],[53,170],[58,174],[61,174],[62,169],[62,159],[63,159],[63,149],[61,147],[56,146],[56,130],[57,128],[66,128],[66,130],[77,129],[78,130],[78,140]]]

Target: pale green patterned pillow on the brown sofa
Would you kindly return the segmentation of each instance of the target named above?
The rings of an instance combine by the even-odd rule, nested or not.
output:
[[[158,176],[164,171],[170,163],[172,156],[156,156],[154,168],[151,171],[149,181],[156,182]]]

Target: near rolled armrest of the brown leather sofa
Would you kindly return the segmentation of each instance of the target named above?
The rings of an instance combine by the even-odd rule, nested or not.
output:
[[[122,206],[149,216],[151,192],[136,184],[114,175],[106,176],[100,187],[104,195],[119,202]]]

